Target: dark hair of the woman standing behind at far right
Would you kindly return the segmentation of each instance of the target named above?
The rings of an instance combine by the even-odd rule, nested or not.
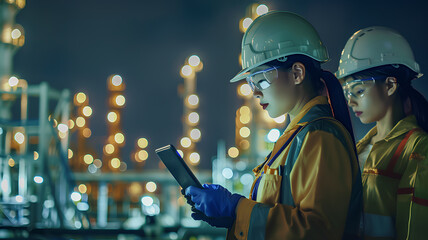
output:
[[[353,78],[382,77],[379,81],[384,81],[387,77],[395,77],[398,82],[398,95],[403,105],[403,111],[406,115],[413,114],[416,117],[418,125],[428,132],[428,101],[426,98],[412,86],[412,80],[417,73],[410,68],[401,65],[383,65],[370,68],[365,71],[353,74]]]

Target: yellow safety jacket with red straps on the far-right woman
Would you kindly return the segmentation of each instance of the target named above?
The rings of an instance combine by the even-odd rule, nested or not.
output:
[[[361,152],[374,127],[357,144]],[[376,142],[364,164],[365,239],[428,239],[428,134],[415,116]]]

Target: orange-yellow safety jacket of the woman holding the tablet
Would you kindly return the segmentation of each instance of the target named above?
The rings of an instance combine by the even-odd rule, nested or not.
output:
[[[253,170],[227,239],[342,239],[356,235],[361,176],[351,136],[326,97],[309,101]],[[349,214],[348,214],[349,212]]]

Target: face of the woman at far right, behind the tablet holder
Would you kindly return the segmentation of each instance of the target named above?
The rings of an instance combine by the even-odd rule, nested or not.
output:
[[[348,106],[362,123],[376,122],[385,116],[389,105],[385,83],[348,77],[342,87]]]

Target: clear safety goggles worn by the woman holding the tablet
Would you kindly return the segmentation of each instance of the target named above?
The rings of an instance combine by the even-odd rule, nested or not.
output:
[[[280,67],[270,67],[261,71],[250,74],[246,77],[248,85],[250,85],[253,92],[257,89],[264,90],[272,84],[273,81],[278,79],[278,69]]]

